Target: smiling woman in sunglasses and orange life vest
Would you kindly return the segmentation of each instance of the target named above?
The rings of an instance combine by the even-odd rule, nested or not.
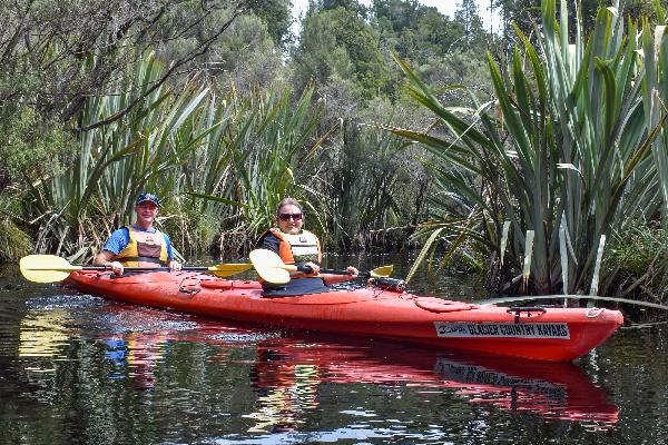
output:
[[[352,275],[320,274],[323,254],[317,237],[304,230],[304,212],[302,205],[293,199],[285,198],[276,208],[277,228],[271,228],[258,240],[257,248],[267,249],[278,254],[283,263],[289,265],[304,265],[311,267],[311,274],[291,273],[291,278],[318,277],[327,284],[347,281],[357,277],[360,271],[348,266]]]

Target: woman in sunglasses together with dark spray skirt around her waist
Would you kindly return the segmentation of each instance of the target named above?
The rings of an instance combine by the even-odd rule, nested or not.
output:
[[[320,239],[311,231],[304,230],[304,211],[302,205],[293,198],[284,198],[276,207],[275,221],[277,228],[268,229],[257,241],[256,247],[272,250],[287,265],[307,266],[311,273],[291,273],[293,278],[287,285],[275,286],[263,283],[265,293],[272,295],[289,295],[328,290],[325,285],[347,281],[357,278],[360,270],[353,266],[346,268],[351,275],[320,274],[323,258]],[[307,279],[294,279],[307,278]],[[298,288],[298,291],[297,291]]]

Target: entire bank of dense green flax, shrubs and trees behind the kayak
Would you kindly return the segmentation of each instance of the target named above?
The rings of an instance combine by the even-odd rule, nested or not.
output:
[[[2,2],[0,259],[86,261],[141,190],[185,256],[236,258],[291,195],[330,250],[664,297],[661,4],[495,1],[494,33],[367,4]]]

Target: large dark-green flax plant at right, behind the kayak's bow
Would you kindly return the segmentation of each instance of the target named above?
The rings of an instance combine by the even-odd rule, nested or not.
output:
[[[625,33],[618,10],[600,9],[587,40],[578,16],[570,42],[567,20],[558,22],[556,16],[556,1],[544,0],[542,27],[536,29],[538,47],[515,28],[519,43],[507,71],[489,57],[495,100],[478,103],[468,113],[442,105],[399,60],[410,93],[434,113],[434,128],[444,136],[389,129],[422,142],[435,157],[443,194],[468,202],[465,209],[432,215],[421,235],[441,233],[425,247],[445,234],[454,247],[463,244],[462,236],[475,239],[492,258],[494,290],[517,283],[524,237],[532,230],[525,291],[588,291],[601,236],[642,210],[630,198],[646,197],[652,182],[639,175],[656,177],[649,171],[649,157],[665,112],[654,121],[646,119],[645,70],[637,52],[637,36],[642,40],[649,28],[639,32],[630,21]],[[566,2],[560,17],[568,17]],[[559,255],[562,220],[567,265]],[[511,225],[510,243],[500,258],[504,221]],[[568,283],[561,283],[562,267],[568,267]]]

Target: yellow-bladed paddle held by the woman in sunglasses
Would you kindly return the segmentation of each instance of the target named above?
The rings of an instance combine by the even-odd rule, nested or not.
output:
[[[283,285],[289,281],[291,271],[303,271],[305,274],[311,274],[312,271],[308,266],[286,265],[276,253],[267,249],[253,250],[250,253],[250,263],[253,263],[257,275],[259,275],[262,279],[276,285]],[[358,277],[385,278],[392,274],[393,268],[394,266],[376,267],[370,271],[361,271]],[[320,271],[321,274],[352,275],[347,270],[320,269]]]

